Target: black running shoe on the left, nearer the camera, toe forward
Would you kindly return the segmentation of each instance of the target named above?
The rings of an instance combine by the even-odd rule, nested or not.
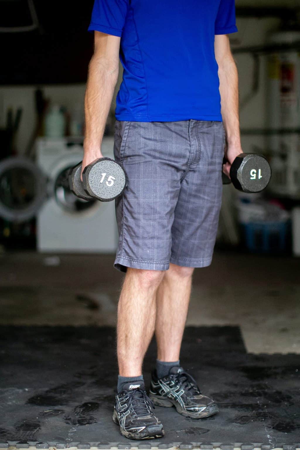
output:
[[[161,422],[154,415],[154,405],[146,394],[145,385],[126,383],[124,391],[116,395],[112,420],[120,425],[120,432],[129,439],[162,437]]]

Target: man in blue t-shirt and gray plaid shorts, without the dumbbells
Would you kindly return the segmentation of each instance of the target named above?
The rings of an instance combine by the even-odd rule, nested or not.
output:
[[[85,95],[83,167],[98,157],[119,57],[114,156],[128,175],[116,199],[125,272],[118,304],[119,377],[113,420],[131,439],[163,436],[153,403],[202,418],[218,411],[179,364],[192,274],[210,264],[222,162],[242,153],[238,80],[228,40],[234,0],[95,0]],[[227,142],[225,148],[225,140]],[[101,230],[99,230],[101,233]],[[149,396],[143,357],[155,333]]]

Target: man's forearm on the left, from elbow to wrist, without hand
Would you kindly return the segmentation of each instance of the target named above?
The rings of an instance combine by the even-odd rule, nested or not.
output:
[[[85,153],[99,157],[107,116],[118,79],[118,67],[105,58],[93,56],[85,92]]]

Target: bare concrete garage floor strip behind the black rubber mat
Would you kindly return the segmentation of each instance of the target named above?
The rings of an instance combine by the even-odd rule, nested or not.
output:
[[[0,324],[115,325],[114,255],[0,255]],[[247,351],[300,353],[300,261],[215,252],[196,269],[188,325],[239,325]]]

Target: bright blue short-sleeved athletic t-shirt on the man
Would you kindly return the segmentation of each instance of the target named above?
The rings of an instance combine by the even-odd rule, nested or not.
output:
[[[222,121],[214,40],[237,31],[234,0],[94,0],[93,30],[121,36],[116,119]]]

